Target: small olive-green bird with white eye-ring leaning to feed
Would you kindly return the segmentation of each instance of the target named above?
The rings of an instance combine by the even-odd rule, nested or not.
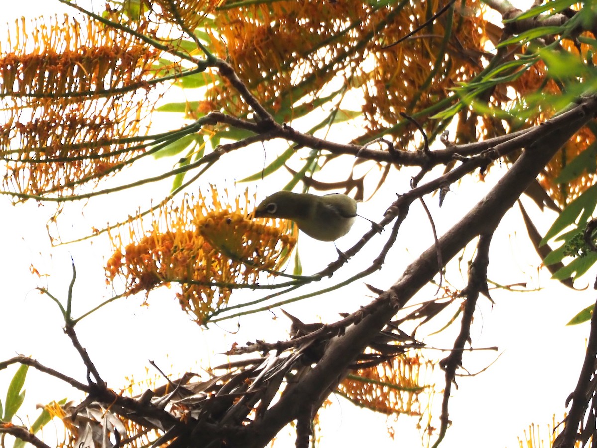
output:
[[[315,240],[336,241],[348,233],[358,215],[356,201],[347,195],[278,191],[257,205],[254,216],[291,219]]]

